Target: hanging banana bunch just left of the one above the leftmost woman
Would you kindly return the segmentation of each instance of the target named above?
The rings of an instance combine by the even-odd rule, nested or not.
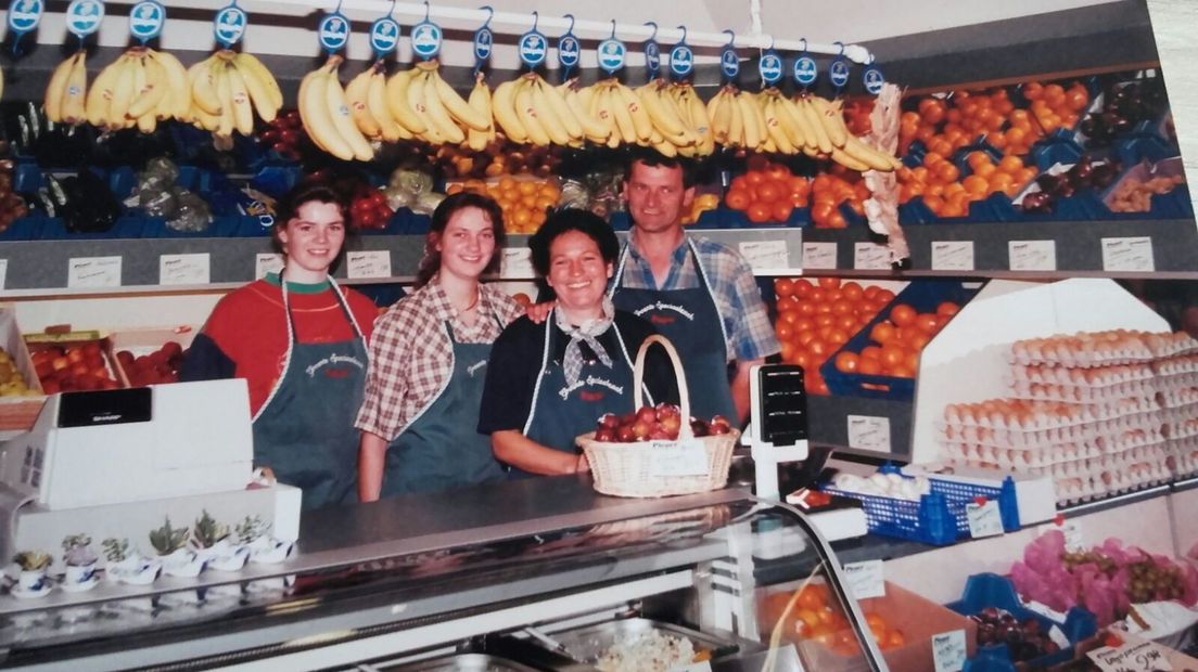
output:
[[[187,111],[180,118],[229,140],[254,133],[254,112],[266,123],[283,108],[283,91],[255,56],[219,49],[187,69]]]

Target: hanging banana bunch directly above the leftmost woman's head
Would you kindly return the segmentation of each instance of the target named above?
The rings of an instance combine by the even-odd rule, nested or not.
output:
[[[337,71],[344,59],[331,55],[325,65],[300,81],[300,120],[308,136],[344,161],[369,161],[374,148],[358,129]]]

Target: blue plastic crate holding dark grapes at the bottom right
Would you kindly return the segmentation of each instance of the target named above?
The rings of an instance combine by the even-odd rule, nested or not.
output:
[[[966,589],[962,598],[949,603],[949,609],[963,616],[972,616],[988,606],[998,607],[1011,613],[1019,622],[1034,618],[1040,623],[1041,631],[1047,633],[1051,628],[1060,628],[1060,631],[1069,640],[1070,644],[1094,636],[1099,629],[1097,619],[1089,611],[1075,606],[1065,615],[1065,621],[1053,621],[1046,616],[1036,613],[1023,606],[1015,592],[1015,586],[1005,576],[984,573],[974,574],[966,581]],[[1047,667],[1073,658],[1073,647],[1061,648],[1049,655],[1042,655],[1025,661],[1031,667]],[[1011,661],[1010,650],[1006,644],[978,644],[975,658],[978,666],[966,666],[966,670],[975,672],[987,670],[1015,670]]]

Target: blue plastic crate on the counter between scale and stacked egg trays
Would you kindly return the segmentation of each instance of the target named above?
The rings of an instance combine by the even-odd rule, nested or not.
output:
[[[898,474],[893,465],[883,465],[879,474]],[[910,476],[903,478],[912,478]],[[919,501],[861,495],[848,493],[831,485],[823,485],[827,493],[860,500],[865,519],[871,533],[901,539],[913,539],[932,545],[945,545],[957,539],[969,537],[969,519],[966,506],[978,497],[998,501],[1003,518],[1003,530],[1015,532],[1019,529],[1019,507],[1015,494],[1015,482],[1006,477],[1000,488],[991,488],[974,483],[960,483],[928,478],[931,493]]]

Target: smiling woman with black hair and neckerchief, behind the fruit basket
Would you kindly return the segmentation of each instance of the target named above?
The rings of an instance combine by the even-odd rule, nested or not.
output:
[[[557,304],[544,324],[520,318],[495,342],[478,430],[514,477],[587,471],[574,439],[634,410],[633,360],[654,330],[605,297],[619,243],[597,215],[559,210],[528,246]],[[668,362],[658,349],[647,362],[649,398],[674,401]]]

